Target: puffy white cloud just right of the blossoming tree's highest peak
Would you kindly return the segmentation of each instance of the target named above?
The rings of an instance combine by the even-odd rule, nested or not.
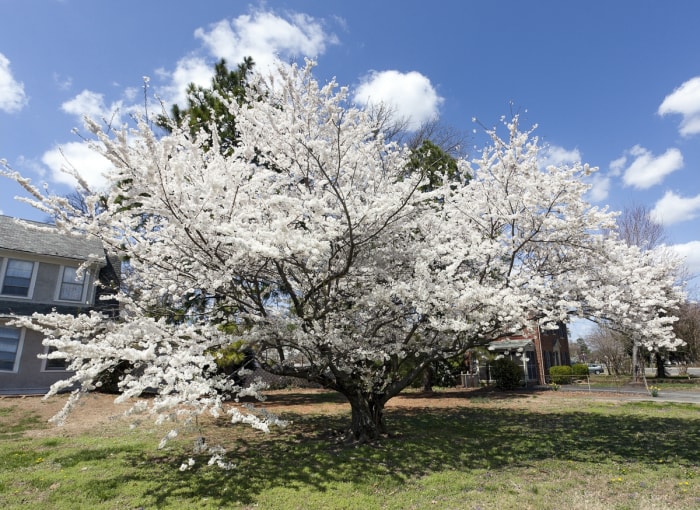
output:
[[[436,119],[444,102],[430,80],[417,71],[373,72],[362,80],[353,99],[364,106],[386,105],[407,121],[409,130]]]

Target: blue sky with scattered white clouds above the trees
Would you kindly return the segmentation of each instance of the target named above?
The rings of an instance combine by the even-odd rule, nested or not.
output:
[[[589,199],[648,207],[700,273],[700,2],[0,0],[0,159],[59,194],[102,161],[73,128],[166,104],[214,62],[317,59],[317,76],[471,135],[518,112],[550,160],[600,171]],[[43,219],[0,181],[0,211]],[[697,278],[695,279],[697,282]]]

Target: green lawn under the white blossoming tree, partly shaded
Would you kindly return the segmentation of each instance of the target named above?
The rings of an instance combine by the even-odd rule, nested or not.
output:
[[[307,396],[290,394],[290,401]],[[21,404],[0,413],[4,509],[652,509],[700,508],[700,407],[583,397],[480,395],[460,407],[388,410],[396,435],[348,447],[332,394],[264,435],[206,423],[157,450],[163,430],[32,438]],[[335,410],[329,410],[335,409]],[[36,417],[34,417],[36,418]],[[9,429],[7,429],[9,430]],[[236,464],[185,472],[194,437]],[[102,436],[102,437],[101,437]]]

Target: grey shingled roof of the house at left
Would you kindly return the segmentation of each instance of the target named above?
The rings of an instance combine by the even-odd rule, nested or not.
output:
[[[103,256],[102,242],[94,237],[71,236],[48,223],[0,215],[0,248],[84,261]]]

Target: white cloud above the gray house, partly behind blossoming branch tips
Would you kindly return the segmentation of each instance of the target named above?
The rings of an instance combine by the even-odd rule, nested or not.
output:
[[[112,164],[107,159],[83,142],[70,142],[54,147],[44,153],[41,161],[49,168],[49,177],[53,182],[75,187],[76,179],[64,171],[72,168],[93,190],[105,187],[107,181],[104,173],[112,168]]]

